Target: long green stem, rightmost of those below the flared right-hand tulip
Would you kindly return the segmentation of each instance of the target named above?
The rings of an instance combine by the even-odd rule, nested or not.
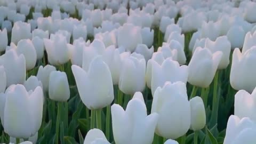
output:
[[[219,109],[219,99],[220,95],[218,94],[218,77],[219,71],[217,70],[214,77],[214,85],[213,85],[213,101],[212,101],[212,125],[214,126],[218,120],[218,109]]]

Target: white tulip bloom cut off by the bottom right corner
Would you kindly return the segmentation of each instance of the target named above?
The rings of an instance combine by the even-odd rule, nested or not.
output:
[[[253,144],[256,141],[256,124],[250,118],[231,115],[228,118],[223,144]]]

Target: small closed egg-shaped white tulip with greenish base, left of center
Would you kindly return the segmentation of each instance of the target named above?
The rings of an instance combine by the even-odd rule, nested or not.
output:
[[[68,77],[65,72],[52,71],[49,77],[49,98],[67,101],[70,97]]]

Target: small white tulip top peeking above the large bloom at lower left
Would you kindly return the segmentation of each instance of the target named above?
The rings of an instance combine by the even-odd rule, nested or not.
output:
[[[37,86],[40,86],[43,90],[43,84],[41,81],[38,80],[36,76],[30,76],[27,81],[24,82],[23,84],[26,88],[27,91],[34,91]]]

